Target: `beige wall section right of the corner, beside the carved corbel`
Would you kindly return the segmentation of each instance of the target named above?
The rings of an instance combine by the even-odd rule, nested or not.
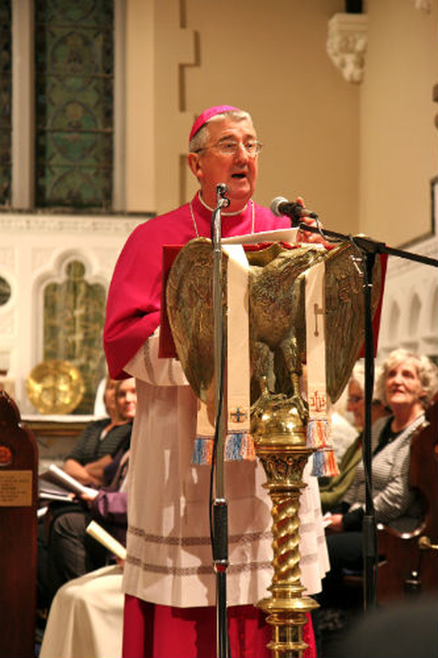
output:
[[[360,227],[400,246],[430,231],[430,179],[438,174],[433,85],[438,5],[368,0],[361,86]]]

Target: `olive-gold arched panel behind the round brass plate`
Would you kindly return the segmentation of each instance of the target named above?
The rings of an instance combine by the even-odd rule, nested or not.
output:
[[[86,392],[74,414],[92,414],[99,381],[105,376],[102,327],[105,288],[86,280],[79,260],[66,265],[60,283],[44,288],[44,359],[61,359],[76,366]]]

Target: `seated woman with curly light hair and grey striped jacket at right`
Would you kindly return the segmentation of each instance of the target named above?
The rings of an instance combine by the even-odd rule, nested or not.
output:
[[[424,409],[437,392],[437,368],[427,357],[405,350],[391,352],[376,381],[376,392],[391,409],[372,427],[378,443],[372,457],[372,501],[376,522],[400,530],[412,530],[422,509],[409,487],[409,452],[413,433],[424,422]],[[344,568],[362,568],[362,519],[365,511],[365,471],[357,466],[355,479],[339,511],[331,516],[327,546],[331,570],[324,579],[322,603],[339,590]]]

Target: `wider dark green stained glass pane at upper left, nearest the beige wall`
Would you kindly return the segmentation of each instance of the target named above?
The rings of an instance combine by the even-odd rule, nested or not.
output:
[[[112,202],[113,0],[36,0],[36,205]]]

